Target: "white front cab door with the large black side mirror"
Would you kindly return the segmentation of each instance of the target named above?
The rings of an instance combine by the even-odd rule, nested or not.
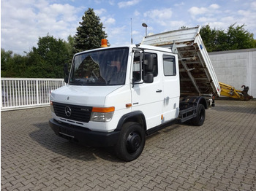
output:
[[[144,55],[145,54],[145,55]],[[134,52],[132,63],[132,111],[143,112],[147,129],[161,124],[163,106],[162,76],[159,75],[159,56],[156,52]],[[153,62],[153,69],[146,64]],[[153,82],[147,82],[148,74],[153,74]]]

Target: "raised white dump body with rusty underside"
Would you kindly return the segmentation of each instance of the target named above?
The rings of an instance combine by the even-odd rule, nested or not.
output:
[[[145,36],[141,44],[167,47],[178,54],[181,95],[219,95],[220,87],[200,26]]]

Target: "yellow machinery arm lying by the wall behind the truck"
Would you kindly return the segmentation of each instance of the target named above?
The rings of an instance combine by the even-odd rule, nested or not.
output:
[[[236,90],[235,87],[232,87],[231,85],[226,85],[222,82],[219,82],[219,86],[221,87],[220,95],[224,95],[230,98],[236,98],[243,101],[249,101],[253,97],[248,94],[249,87],[242,85],[242,88],[244,87],[244,90]]]

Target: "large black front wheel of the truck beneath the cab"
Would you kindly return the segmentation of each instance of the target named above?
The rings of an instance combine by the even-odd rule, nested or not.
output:
[[[132,161],[143,152],[146,136],[145,130],[137,122],[127,122],[121,128],[121,133],[115,150],[118,158]]]

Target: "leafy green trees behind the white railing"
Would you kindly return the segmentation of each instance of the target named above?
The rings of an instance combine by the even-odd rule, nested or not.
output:
[[[1,77],[62,78],[64,61],[72,61],[74,38],[69,36],[68,41],[39,37],[38,47],[26,55],[1,49]]]

